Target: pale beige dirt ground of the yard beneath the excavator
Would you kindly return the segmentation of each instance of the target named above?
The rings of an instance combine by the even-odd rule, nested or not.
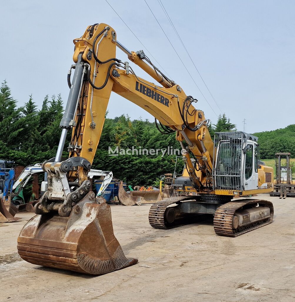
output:
[[[0,301],[295,301],[295,198],[274,203],[274,222],[237,238],[212,222],[171,230],[149,226],[150,205],[112,206],[114,231],[136,265],[102,276],[32,265],[17,236],[33,213],[0,224]]]

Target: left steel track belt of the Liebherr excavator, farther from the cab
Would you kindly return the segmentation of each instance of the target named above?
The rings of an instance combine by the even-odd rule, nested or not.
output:
[[[149,210],[149,224],[155,229],[170,229],[171,227],[166,226],[164,221],[165,210],[170,204],[180,203],[184,200],[196,200],[199,197],[194,196],[177,196],[169,197],[164,200],[155,202],[152,204]]]

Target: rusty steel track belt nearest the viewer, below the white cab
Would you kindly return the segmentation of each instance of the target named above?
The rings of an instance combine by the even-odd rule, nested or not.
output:
[[[265,220],[261,220],[261,223],[258,225],[254,225],[254,223],[250,223],[243,230],[233,230],[233,216],[234,213],[239,210],[241,207],[247,204],[259,204],[265,205],[270,208],[270,217]],[[269,223],[272,223],[274,216],[274,207],[270,201],[261,200],[261,199],[252,199],[252,200],[240,200],[240,201],[231,201],[222,206],[218,207],[214,214],[213,226],[215,233],[220,236],[228,236],[228,237],[237,237],[243,235],[245,233],[256,230],[262,226],[266,226]]]

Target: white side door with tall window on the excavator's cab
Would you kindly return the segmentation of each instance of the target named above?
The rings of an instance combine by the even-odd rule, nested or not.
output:
[[[247,141],[243,149],[244,153],[244,190],[256,190],[258,188],[258,152],[257,145],[252,141]]]

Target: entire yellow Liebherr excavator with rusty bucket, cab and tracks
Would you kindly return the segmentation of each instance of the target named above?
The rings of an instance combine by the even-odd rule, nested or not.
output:
[[[235,237],[272,222],[271,202],[241,198],[273,190],[272,168],[259,165],[257,137],[224,132],[216,133],[212,141],[209,121],[193,106],[197,100],[186,95],[142,50],[133,52],[123,46],[109,25],[87,27],[74,44],[75,64],[68,73],[70,92],[57,154],[42,164],[48,191],[34,207],[37,215],[17,239],[22,259],[93,275],[137,262],[125,257],[113,232],[110,206],[95,198],[87,178],[112,91],[152,114],[163,134],[175,132],[182,148],[186,170],[174,185],[192,193],[153,204],[152,227],[168,229],[180,219],[209,213],[214,214],[216,234]],[[117,47],[158,84],[140,78],[128,61],[117,59]],[[69,158],[61,161],[70,130]],[[234,196],[240,198],[231,201]]]

